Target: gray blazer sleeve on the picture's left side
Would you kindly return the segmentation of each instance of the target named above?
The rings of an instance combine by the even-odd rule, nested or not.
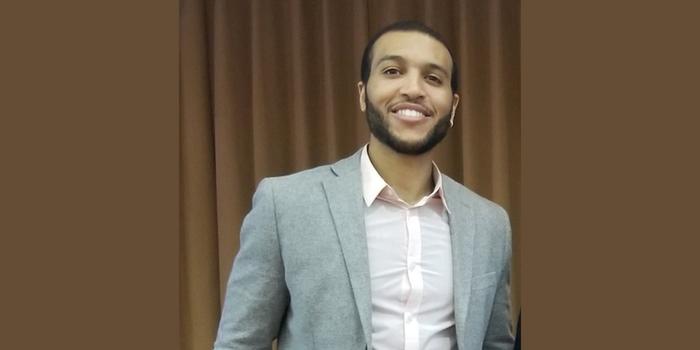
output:
[[[258,185],[240,239],[214,350],[271,349],[289,303],[271,180]]]

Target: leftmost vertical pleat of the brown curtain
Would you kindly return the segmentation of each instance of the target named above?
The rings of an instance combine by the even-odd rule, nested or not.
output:
[[[209,4],[181,4],[180,334],[183,349],[204,349],[220,309]]]

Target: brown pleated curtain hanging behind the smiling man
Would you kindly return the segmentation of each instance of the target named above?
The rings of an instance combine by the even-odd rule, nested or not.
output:
[[[519,2],[507,0],[182,0],[182,349],[212,347],[258,181],[333,162],[367,142],[360,57],[369,35],[399,19],[435,28],[456,56],[461,102],[436,162],[509,211],[517,311],[519,18]]]

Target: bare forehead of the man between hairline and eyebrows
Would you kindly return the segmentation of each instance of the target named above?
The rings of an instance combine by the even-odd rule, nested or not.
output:
[[[379,37],[372,49],[372,66],[384,56],[401,56],[416,64],[437,64],[452,69],[452,58],[445,45],[421,32],[388,32]]]

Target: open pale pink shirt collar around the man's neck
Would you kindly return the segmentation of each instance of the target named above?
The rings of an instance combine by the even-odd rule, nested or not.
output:
[[[362,173],[362,196],[365,200],[365,205],[369,207],[372,205],[374,200],[379,197],[379,194],[385,188],[391,188],[391,186],[389,186],[377,172],[377,169],[369,159],[367,148],[368,145],[365,145],[365,147],[362,148],[362,155],[360,156],[360,171]],[[415,206],[423,205],[427,199],[432,197],[440,198],[442,201],[442,206],[449,213],[450,209],[447,208],[447,202],[445,202],[445,196],[442,188],[442,175],[435,162],[433,162],[433,181],[435,182],[435,188],[433,188],[433,191],[422,200],[418,201]]]

